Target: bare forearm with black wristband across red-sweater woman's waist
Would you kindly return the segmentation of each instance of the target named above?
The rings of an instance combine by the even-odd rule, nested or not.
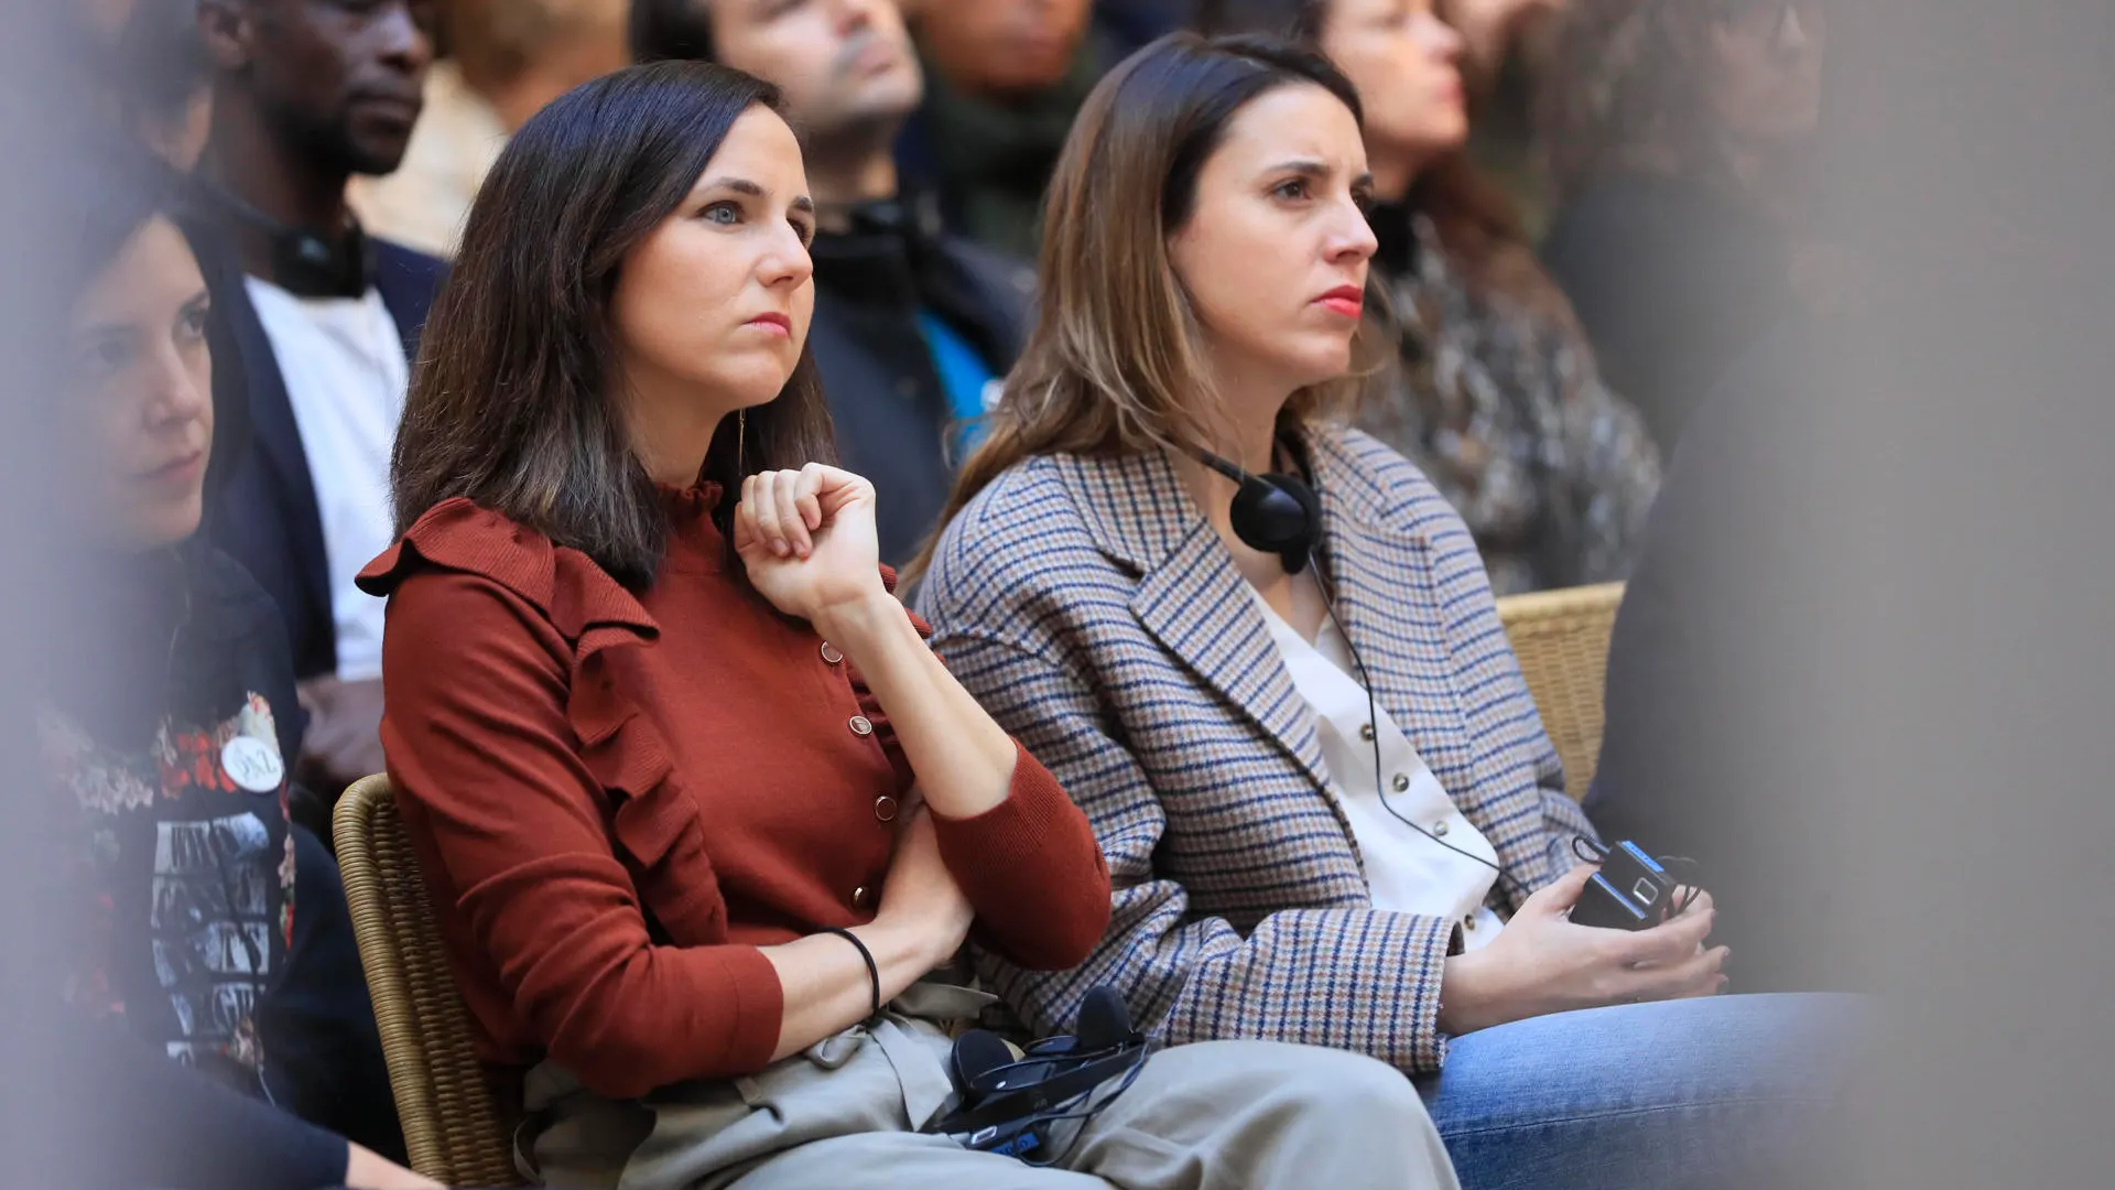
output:
[[[882,978],[882,1004],[948,961],[948,955],[935,953],[931,932],[916,923],[878,919],[854,925],[852,934],[873,955]],[[797,942],[764,946],[764,957],[778,972],[778,987],[785,993],[785,1018],[778,1025],[772,1061],[842,1033],[873,1010],[873,976],[867,972],[867,961],[838,934],[810,934]]]

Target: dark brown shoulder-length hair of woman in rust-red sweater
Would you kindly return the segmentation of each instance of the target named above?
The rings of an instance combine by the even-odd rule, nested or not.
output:
[[[664,61],[586,83],[514,133],[425,328],[391,466],[400,534],[467,495],[635,591],[654,582],[666,525],[620,407],[609,299],[626,254],[755,106],[776,110],[778,91],[723,66]],[[776,400],[721,423],[698,479],[734,491],[744,474],[831,457],[804,351]],[[728,529],[732,500],[715,517]]]

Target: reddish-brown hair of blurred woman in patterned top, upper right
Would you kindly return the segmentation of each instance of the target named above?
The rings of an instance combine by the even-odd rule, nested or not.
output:
[[[1282,32],[1322,51],[1332,0],[1203,0],[1199,21],[1208,32]],[[1519,205],[1457,148],[1421,167],[1402,199],[1409,214],[1432,220],[1447,265],[1481,299],[1500,299],[1580,335],[1571,303],[1542,269]]]

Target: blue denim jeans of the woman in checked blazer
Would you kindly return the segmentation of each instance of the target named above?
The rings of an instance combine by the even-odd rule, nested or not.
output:
[[[1464,1190],[1690,1190],[1825,1179],[1865,1004],[1717,995],[1455,1038],[1417,1080]]]

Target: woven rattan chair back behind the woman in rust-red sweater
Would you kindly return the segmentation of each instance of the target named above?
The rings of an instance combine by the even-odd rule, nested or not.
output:
[[[345,790],[332,836],[412,1169],[448,1186],[522,1186],[514,1112],[472,1050],[470,1010],[448,972],[389,777]]]

